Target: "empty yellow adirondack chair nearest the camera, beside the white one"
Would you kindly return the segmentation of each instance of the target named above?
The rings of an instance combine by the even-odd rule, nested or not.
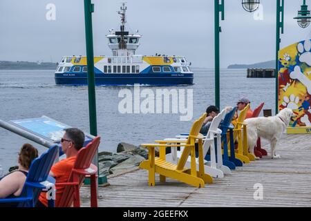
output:
[[[149,158],[140,163],[141,169],[149,171],[149,186],[155,186],[156,173],[160,174],[160,182],[165,182],[166,177],[171,177],[180,182],[185,182],[191,186],[204,187],[205,183],[211,184],[213,178],[204,171],[204,156],[202,148],[203,137],[199,135],[200,128],[204,122],[206,113],[197,119],[191,127],[187,142],[182,144],[141,144],[149,149]],[[196,170],[195,142],[198,139],[199,171]],[[171,143],[171,141],[164,141]],[[175,141],[176,142],[176,141]],[[160,157],[155,156],[155,147],[160,148]],[[173,164],[165,160],[166,148],[169,146],[184,146],[178,164]],[[191,155],[191,169],[185,167],[187,159]]]

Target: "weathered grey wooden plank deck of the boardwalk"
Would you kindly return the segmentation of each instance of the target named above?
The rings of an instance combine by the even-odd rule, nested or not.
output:
[[[167,178],[148,186],[148,174],[137,169],[109,178],[100,187],[99,206],[311,206],[310,135],[283,135],[276,153],[238,167],[214,184],[195,188]],[[269,145],[263,146],[270,151]],[[263,185],[263,200],[254,200],[254,184]],[[89,189],[81,189],[82,206],[90,206]]]

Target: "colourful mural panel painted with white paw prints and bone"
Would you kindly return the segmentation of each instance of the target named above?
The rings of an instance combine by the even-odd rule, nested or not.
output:
[[[311,41],[292,44],[279,51],[279,110],[291,108],[290,122],[297,133],[311,130]],[[293,130],[292,130],[293,131]]]

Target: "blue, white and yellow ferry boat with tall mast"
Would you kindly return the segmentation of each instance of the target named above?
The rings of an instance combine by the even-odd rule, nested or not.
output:
[[[120,31],[109,30],[108,46],[111,56],[94,57],[95,84],[176,86],[193,84],[185,56],[136,55],[142,35],[124,30],[126,6],[122,3],[118,14],[121,16]],[[68,86],[87,85],[86,56],[64,56],[55,71],[55,84]]]

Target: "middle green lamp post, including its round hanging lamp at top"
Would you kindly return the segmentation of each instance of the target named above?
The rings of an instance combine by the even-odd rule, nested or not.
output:
[[[254,12],[260,4],[259,0],[242,0],[242,6],[247,12]],[[215,106],[220,108],[220,44],[219,35],[221,27],[219,25],[219,15],[221,20],[225,20],[225,0],[214,0],[214,34],[215,34]]]

